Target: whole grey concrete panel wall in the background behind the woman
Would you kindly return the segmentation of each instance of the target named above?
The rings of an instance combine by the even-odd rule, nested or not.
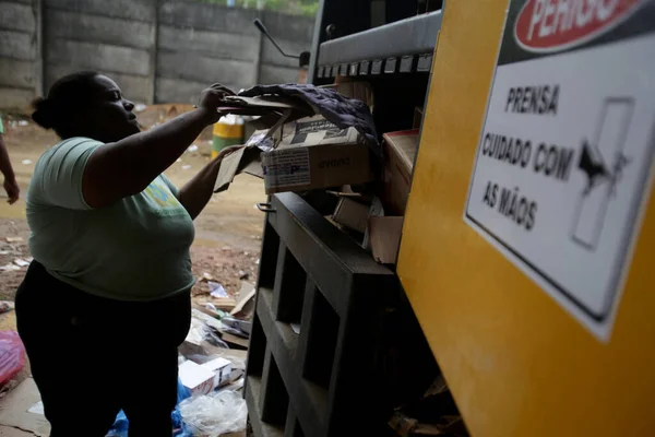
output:
[[[194,103],[207,84],[294,82],[313,20],[192,0],[0,0],[0,108],[25,107],[64,74],[97,70],[143,103]],[[41,37],[43,35],[43,37]]]

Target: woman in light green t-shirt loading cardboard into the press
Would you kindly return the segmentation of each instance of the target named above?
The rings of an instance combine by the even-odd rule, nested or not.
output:
[[[34,261],[16,317],[52,437],[103,437],[121,409],[130,436],[171,435],[192,220],[225,153],[179,190],[162,173],[217,121],[228,93],[212,85],[195,110],[147,132],[96,72],[68,75],[35,102],[32,118],[61,142],[27,192]]]

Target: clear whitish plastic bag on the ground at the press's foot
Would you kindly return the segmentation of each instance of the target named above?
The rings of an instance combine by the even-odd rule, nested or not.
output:
[[[218,437],[246,429],[248,406],[240,394],[223,390],[187,399],[180,413],[194,436]]]

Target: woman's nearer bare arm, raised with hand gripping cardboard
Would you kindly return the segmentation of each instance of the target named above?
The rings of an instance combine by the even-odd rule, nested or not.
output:
[[[204,90],[199,108],[175,119],[99,146],[82,178],[84,200],[92,208],[107,206],[143,191],[168,168],[209,125],[221,117],[216,108],[226,92],[219,85]]]

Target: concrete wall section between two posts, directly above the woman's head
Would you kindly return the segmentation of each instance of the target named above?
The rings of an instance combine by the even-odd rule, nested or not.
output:
[[[44,0],[45,86],[97,70],[124,95],[152,102],[156,0]]]

